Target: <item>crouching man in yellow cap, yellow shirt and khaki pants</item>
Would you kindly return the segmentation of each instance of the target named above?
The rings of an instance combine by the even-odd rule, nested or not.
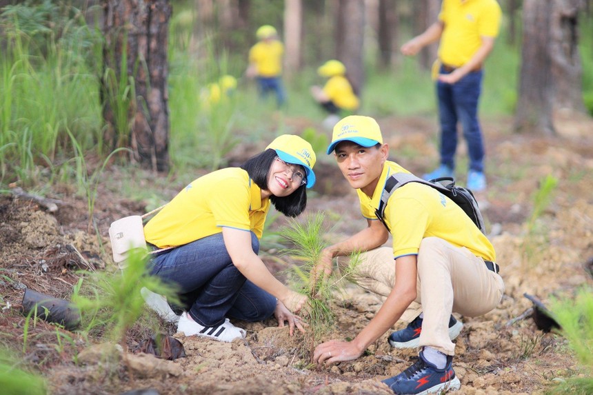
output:
[[[410,324],[390,334],[389,343],[419,347],[419,361],[383,383],[395,394],[459,389],[452,367],[452,339],[463,324],[452,312],[479,316],[500,303],[505,287],[492,243],[459,205],[422,183],[396,188],[384,202],[384,223],[378,221],[376,210],[390,175],[409,172],[388,161],[389,147],[374,119],[352,115],[339,121],[328,147],[328,154],[332,152],[343,176],[356,189],[368,226],[323,250],[314,275],[330,274],[336,256],[362,252],[356,267],[357,276],[364,280],[361,285],[385,296],[385,301],[352,341],[318,345],[314,361],[356,359],[403,318]],[[389,234],[392,247],[381,247]]]

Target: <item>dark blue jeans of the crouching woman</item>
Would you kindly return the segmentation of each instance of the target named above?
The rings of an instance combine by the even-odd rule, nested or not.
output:
[[[253,251],[259,240],[251,233]],[[272,316],[276,298],[248,281],[232,264],[223,235],[213,234],[155,256],[150,274],[179,287],[188,314],[200,325],[221,325],[226,316],[262,321]]]

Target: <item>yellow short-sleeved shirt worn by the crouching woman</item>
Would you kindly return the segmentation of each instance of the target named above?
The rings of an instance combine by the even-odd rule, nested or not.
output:
[[[148,243],[184,245],[222,227],[252,231],[261,238],[270,200],[241,168],[217,170],[192,181],[144,226]]]

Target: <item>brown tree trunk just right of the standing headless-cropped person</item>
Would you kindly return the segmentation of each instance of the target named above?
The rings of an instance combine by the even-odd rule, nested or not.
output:
[[[523,45],[519,100],[514,128],[518,132],[555,134],[552,123],[551,1],[523,1]]]

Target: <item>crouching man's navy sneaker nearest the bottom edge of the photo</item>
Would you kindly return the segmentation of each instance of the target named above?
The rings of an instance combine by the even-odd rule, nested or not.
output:
[[[383,380],[397,395],[441,394],[443,391],[456,391],[461,388],[459,378],[452,367],[452,356],[447,356],[445,369],[436,366],[424,358],[420,352],[418,361],[402,373]]]

